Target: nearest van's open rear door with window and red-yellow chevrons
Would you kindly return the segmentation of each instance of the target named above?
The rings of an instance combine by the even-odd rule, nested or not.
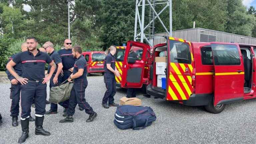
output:
[[[188,100],[193,92],[192,72],[194,58],[191,43],[168,37],[168,64],[166,100]]]

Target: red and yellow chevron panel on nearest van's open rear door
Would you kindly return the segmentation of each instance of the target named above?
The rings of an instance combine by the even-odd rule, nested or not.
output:
[[[191,64],[170,63],[166,100],[187,100],[192,94]]]

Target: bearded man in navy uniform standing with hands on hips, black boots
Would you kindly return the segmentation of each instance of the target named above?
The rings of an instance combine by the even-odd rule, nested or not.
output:
[[[46,104],[46,87],[47,82],[51,79],[56,65],[50,56],[36,49],[38,43],[36,38],[27,38],[28,51],[17,54],[6,66],[8,71],[21,83],[21,128],[22,135],[18,143],[23,143],[28,138],[29,133],[29,115],[31,105],[35,102],[35,134],[51,135],[43,129],[45,104]],[[22,77],[19,76],[13,67],[22,63]],[[50,73],[47,77],[44,75],[45,63],[51,66]]]

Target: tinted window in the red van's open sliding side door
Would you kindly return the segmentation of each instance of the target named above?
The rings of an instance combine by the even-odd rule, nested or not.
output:
[[[241,60],[236,45],[211,44],[214,65],[240,65]]]

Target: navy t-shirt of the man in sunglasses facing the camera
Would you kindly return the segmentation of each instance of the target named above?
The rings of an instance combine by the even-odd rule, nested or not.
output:
[[[60,54],[62,59],[63,70],[68,70],[74,67],[75,58],[73,57],[72,49],[69,49],[69,50],[61,49],[58,51],[58,53]]]

